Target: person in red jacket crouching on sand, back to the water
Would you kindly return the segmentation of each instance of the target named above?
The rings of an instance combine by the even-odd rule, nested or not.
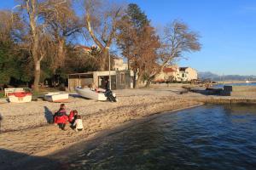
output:
[[[55,123],[58,124],[58,126],[65,130],[65,126],[68,122],[68,116],[65,110],[65,107],[61,107],[59,111],[55,112]]]

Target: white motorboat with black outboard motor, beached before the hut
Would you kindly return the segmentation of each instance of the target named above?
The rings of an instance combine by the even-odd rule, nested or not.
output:
[[[87,99],[96,99],[99,101],[114,101],[116,102],[115,94],[112,94],[110,90],[106,91],[104,89],[92,90],[90,88],[75,88],[75,91],[82,97]],[[111,94],[110,94],[111,93]]]

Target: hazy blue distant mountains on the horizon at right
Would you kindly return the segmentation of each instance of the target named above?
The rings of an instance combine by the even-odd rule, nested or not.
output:
[[[204,79],[210,79],[212,81],[230,81],[230,80],[256,80],[256,76],[250,75],[250,76],[241,76],[241,75],[218,75],[214,74],[210,71],[206,72],[198,72],[198,77],[202,80]]]

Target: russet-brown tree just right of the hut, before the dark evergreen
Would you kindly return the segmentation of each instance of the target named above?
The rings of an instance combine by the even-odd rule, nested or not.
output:
[[[138,88],[143,78],[148,77],[148,72],[158,66],[156,52],[160,48],[160,40],[155,34],[154,27],[143,26],[138,31],[129,24],[129,20],[123,21],[119,23],[118,44],[122,54],[131,62],[135,76],[134,88]]]

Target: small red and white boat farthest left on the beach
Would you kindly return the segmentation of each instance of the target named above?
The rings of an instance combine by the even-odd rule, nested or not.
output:
[[[8,94],[8,98],[11,103],[26,103],[31,102],[32,94],[27,92],[15,92]]]

